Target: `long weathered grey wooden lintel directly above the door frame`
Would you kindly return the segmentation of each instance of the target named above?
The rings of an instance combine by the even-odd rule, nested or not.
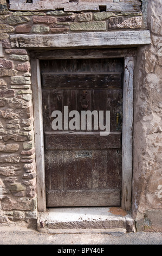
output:
[[[12,48],[138,46],[151,43],[150,31],[88,32],[59,35],[10,35]]]

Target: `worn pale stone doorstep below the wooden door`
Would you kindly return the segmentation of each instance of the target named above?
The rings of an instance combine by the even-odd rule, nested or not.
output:
[[[57,234],[88,231],[124,234],[135,232],[135,223],[127,213],[125,216],[113,214],[111,207],[50,208],[38,214],[37,230]]]

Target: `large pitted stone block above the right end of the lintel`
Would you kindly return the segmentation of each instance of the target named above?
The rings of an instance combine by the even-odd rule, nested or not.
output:
[[[125,19],[124,17],[112,17],[108,20],[108,28],[131,28],[131,29],[139,29],[142,26],[142,17],[131,17]]]

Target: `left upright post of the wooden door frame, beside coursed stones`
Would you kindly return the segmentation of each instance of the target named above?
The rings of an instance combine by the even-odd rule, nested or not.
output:
[[[46,187],[44,172],[43,115],[40,64],[38,59],[31,59],[31,81],[33,85],[35,153],[37,167],[38,211],[46,211]],[[39,173],[38,173],[39,172]]]

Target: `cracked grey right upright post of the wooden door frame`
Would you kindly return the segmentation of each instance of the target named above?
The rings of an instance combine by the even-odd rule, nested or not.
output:
[[[123,130],[122,130],[122,209],[131,209],[132,198],[132,127],[133,127],[133,69],[134,58],[126,57],[124,64]]]

